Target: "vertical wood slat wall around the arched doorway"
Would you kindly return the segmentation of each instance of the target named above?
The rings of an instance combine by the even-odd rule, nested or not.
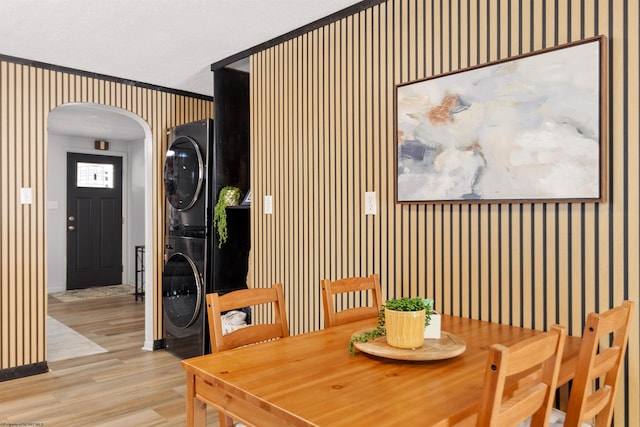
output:
[[[109,105],[137,114],[153,138],[154,339],[162,338],[160,280],[166,130],[213,117],[213,102],[0,60],[0,370],[46,359],[47,118],[70,102]],[[33,204],[20,204],[20,188]]]

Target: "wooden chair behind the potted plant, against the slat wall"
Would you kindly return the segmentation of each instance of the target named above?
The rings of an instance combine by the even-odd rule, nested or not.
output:
[[[380,293],[380,278],[377,274],[372,274],[369,277],[350,277],[334,282],[323,279],[321,283],[325,327],[330,328],[356,320],[378,317],[378,313],[382,309],[382,295]],[[371,292],[373,305],[353,307],[336,312],[334,295],[361,291]]]

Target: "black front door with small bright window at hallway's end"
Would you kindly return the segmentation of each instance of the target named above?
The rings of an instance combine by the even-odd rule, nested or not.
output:
[[[67,154],[67,289],[122,283],[122,158]]]

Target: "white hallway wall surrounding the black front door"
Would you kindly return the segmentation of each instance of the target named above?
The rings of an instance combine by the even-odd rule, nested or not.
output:
[[[47,155],[47,291],[64,291],[67,280],[67,153],[120,156],[124,272],[122,281],[135,281],[134,246],[144,245],[144,140],[109,140],[109,150],[94,149],[94,138],[49,134]]]

